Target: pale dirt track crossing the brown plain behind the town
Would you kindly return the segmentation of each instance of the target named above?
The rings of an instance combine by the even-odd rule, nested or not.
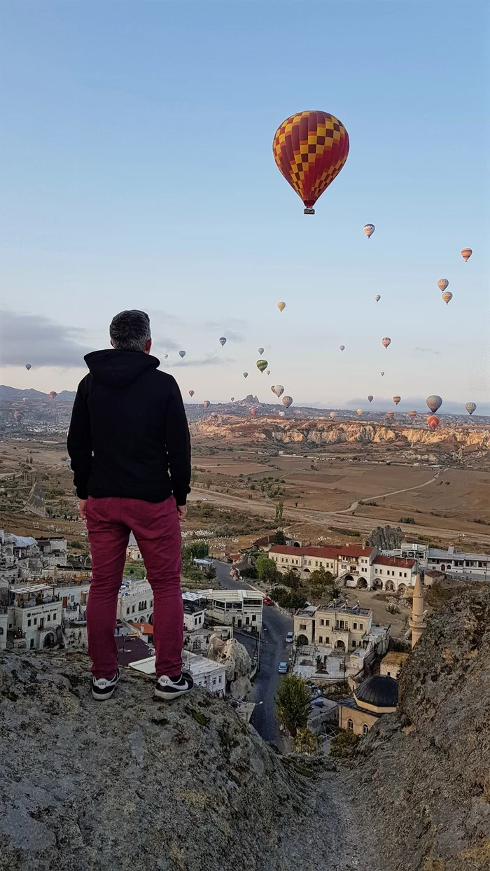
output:
[[[426,482],[431,483],[429,482]],[[419,486],[424,486],[420,484]],[[412,489],[412,488],[411,488]],[[417,488],[414,488],[417,490]],[[243,511],[252,512],[252,514],[258,514],[261,517],[274,518],[276,515],[276,506],[271,503],[260,503],[256,502],[252,499],[243,499],[240,496],[230,496],[228,493],[216,493],[213,490],[198,490],[194,485],[194,489],[192,490],[189,500],[191,502],[197,502],[198,500],[205,500],[215,505],[220,505],[223,508],[236,508]],[[345,512],[344,512],[345,515]],[[315,511],[311,509],[303,509],[303,508],[285,508],[283,513],[284,520],[289,521],[305,521],[308,523],[318,523],[321,526],[332,526],[336,523],[339,523],[339,517],[343,516],[343,512],[341,511]],[[372,519],[370,517],[358,517],[356,515],[351,515],[349,517],[349,528],[351,530],[359,530],[359,532],[364,532],[369,535],[373,531],[374,526],[379,525],[379,519]],[[413,527],[412,524],[407,523],[398,523],[403,530],[404,534],[408,536],[416,535],[416,536],[429,536],[429,537],[440,537],[444,538],[449,542],[453,542],[454,539],[458,536],[461,530],[441,530],[437,529],[433,526],[421,526],[417,524],[416,527]],[[465,530],[465,534],[468,535],[467,530]],[[490,535],[481,535],[480,533],[471,533],[472,540],[475,542],[479,542],[486,547],[486,549],[490,548]]]

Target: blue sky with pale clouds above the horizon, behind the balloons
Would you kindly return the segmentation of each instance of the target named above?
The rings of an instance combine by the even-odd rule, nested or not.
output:
[[[489,37],[473,0],[4,0],[0,381],[76,388],[143,308],[194,402],[484,408]],[[305,109],[351,143],[314,216],[272,159]]]

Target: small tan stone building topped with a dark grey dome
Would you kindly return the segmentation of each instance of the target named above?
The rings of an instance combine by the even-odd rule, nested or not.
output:
[[[393,713],[398,705],[398,681],[374,674],[339,701],[339,728],[354,735],[366,735],[384,713]]]

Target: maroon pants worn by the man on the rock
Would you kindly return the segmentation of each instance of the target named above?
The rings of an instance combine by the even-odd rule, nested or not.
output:
[[[92,557],[87,604],[92,674],[95,678],[111,679],[117,672],[114,638],[117,597],[132,530],[153,591],[157,677],[162,674],[176,677],[182,671],[184,607],[180,590],[180,523],[174,497],[151,503],[141,499],[89,496],[87,529]],[[123,616],[125,618],[125,614]]]

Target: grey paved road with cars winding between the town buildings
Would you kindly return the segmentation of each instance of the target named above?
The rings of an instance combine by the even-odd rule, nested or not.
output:
[[[234,581],[230,577],[230,566],[214,560],[219,585],[225,590],[252,590],[245,581]],[[260,644],[260,667],[253,681],[252,701],[262,702],[257,705],[252,714],[252,726],[266,741],[275,741],[282,746],[279,723],[276,719],[274,697],[281,678],[278,672],[279,662],[286,662],[291,654],[291,645],[285,643],[285,637],[292,631],[292,617],[286,617],[273,605],[264,605],[262,618],[263,632]],[[245,632],[235,631],[237,640],[244,644],[252,654],[257,641]]]

